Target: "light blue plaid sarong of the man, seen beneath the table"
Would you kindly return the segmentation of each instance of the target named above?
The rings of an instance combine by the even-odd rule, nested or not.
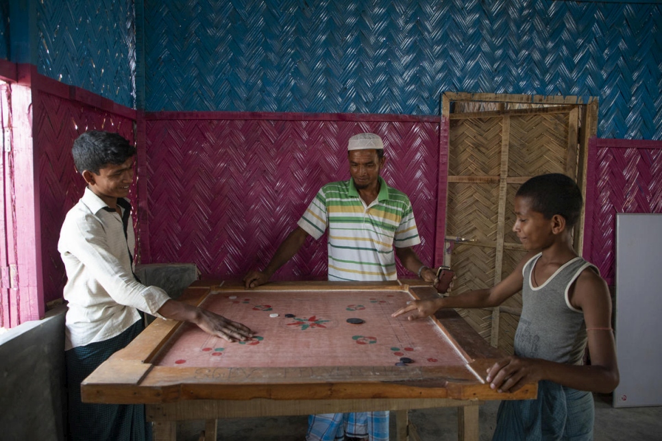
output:
[[[338,441],[346,436],[389,441],[389,411],[308,416],[306,441]]]

